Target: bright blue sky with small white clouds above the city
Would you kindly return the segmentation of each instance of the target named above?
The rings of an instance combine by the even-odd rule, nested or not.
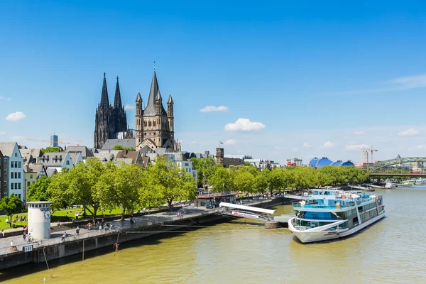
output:
[[[104,72],[134,129],[155,60],[182,151],[426,156],[422,1],[296,2],[3,1],[0,141],[92,147]]]

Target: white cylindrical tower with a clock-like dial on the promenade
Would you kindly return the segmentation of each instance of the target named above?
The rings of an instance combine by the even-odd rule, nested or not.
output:
[[[34,239],[50,238],[50,203],[49,201],[27,202],[28,235]]]

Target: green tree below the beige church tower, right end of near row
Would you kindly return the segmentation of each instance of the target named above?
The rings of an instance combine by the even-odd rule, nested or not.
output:
[[[142,190],[156,192],[157,202],[166,202],[172,209],[175,200],[192,200],[196,187],[192,175],[185,169],[166,163],[163,157],[158,157],[154,164],[146,168]]]

